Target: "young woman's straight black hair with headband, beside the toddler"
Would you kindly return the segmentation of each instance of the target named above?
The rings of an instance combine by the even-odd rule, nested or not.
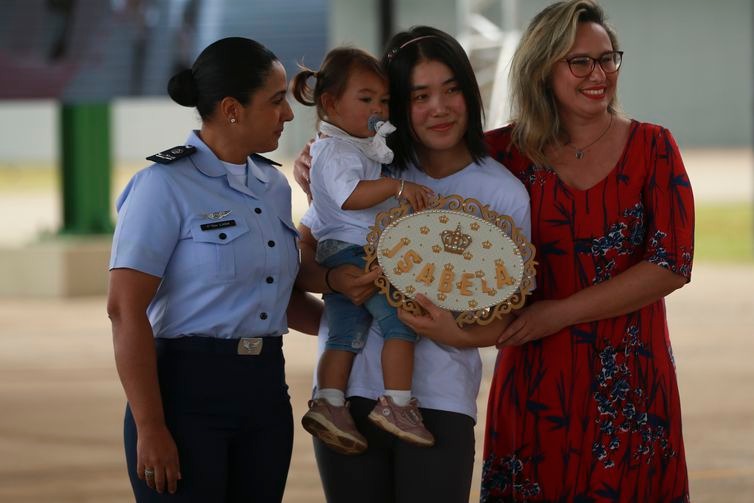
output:
[[[411,73],[423,60],[438,61],[453,72],[466,100],[468,128],[464,140],[474,162],[479,162],[487,155],[487,148],[482,126],[482,96],[471,62],[461,44],[444,31],[414,26],[394,35],[382,57],[390,82],[390,122],[397,129],[388,136],[388,145],[394,153],[393,164],[398,169],[409,164],[419,166],[414,148],[416,135],[411,127]]]

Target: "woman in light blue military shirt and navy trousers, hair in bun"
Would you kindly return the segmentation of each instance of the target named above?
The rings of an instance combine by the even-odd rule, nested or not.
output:
[[[108,313],[138,502],[282,499],[293,423],[281,336],[316,332],[319,317],[291,295],[290,187],[258,155],[293,119],[286,87],[259,43],[211,44],[168,84],[201,129],[149,157],[118,199]]]

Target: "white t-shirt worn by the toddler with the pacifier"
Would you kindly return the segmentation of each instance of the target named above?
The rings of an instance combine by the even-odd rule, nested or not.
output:
[[[311,147],[312,207],[318,215],[312,222],[317,241],[338,239],[357,245],[366,244],[369,227],[377,213],[395,206],[392,198],[363,210],[344,210],[343,203],[361,180],[379,180],[382,165],[339,138],[319,138]]]

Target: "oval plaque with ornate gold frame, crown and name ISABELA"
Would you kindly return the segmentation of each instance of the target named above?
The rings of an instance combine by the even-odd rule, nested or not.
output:
[[[407,204],[377,216],[365,246],[367,268],[390,304],[421,311],[422,293],[456,314],[459,326],[486,324],[524,304],[534,279],[534,247],[507,215],[475,199],[439,197],[424,211]]]

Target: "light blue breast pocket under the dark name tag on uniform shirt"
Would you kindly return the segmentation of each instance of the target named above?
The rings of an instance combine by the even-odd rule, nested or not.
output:
[[[193,223],[191,245],[195,274],[209,281],[235,279],[238,264],[234,248],[238,246],[239,238],[248,232],[248,225],[241,219]]]

